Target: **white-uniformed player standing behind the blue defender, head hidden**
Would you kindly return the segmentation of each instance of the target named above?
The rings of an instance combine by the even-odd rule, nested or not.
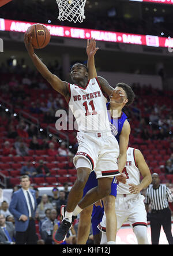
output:
[[[127,177],[127,183],[119,183],[117,191],[115,184],[115,187],[112,188],[111,191],[111,194],[116,197],[115,209],[117,229],[121,228],[123,223],[129,222],[136,235],[138,244],[148,244],[144,196],[140,194],[140,191],[151,184],[152,176],[140,150],[132,147],[127,149],[127,162],[123,169],[123,173],[125,173]],[[143,179],[140,182],[141,175]],[[106,244],[105,213],[98,228],[102,232],[101,244]]]

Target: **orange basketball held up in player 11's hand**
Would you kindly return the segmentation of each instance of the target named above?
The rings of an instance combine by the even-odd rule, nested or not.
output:
[[[50,32],[43,24],[33,24],[27,29],[27,33],[31,33],[32,45],[35,49],[42,49],[50,42]]]

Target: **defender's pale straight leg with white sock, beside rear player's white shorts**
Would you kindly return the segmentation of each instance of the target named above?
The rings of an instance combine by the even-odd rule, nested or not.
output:
[[[115,196],[108,195],[103,199],[104,212],[106,214],[106,235],[107,244],[115,244],[116,240],[116,213],[115,213]]]

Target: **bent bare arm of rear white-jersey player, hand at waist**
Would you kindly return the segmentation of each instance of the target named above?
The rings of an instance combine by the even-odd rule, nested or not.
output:
[[[143,190],[143,188],[146,188],[146,187],[148,187],[149,184],[151,184],[152,176],[151,176],[149,167],[145,162],[144,156],[142,155],[140,150],[137,150],[137,149],[134,150],[134,157],[136,159],[136,165],[137,165],[138,169],[140,170],[140,173],[141,173],[143,179],[141,180],[141,183],[138,185],[129,184],[130,185],[129,191],[133,194],[137,194],[141,190]]]

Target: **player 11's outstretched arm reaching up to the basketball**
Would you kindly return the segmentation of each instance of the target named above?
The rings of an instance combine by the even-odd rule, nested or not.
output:
[[[60,94],[62,94],[66,101],[69,100],[69,87],[68,83],[66,81],[62,81],[59,79],[59,77],[52,74],[46,65],[43,64],[43,62],[37,57],[37,55],[34,52],[34,48],[32,46],[32,36],[25,33],[24,35],[24,42],[25,47],[27,48],[28,54],[32,59],[33,64],[36,66],[37,71],[39,71],[44,79],[48,81],[48,83],[51,84],[51,86],[54,88],[54,90],[58,91]]]

